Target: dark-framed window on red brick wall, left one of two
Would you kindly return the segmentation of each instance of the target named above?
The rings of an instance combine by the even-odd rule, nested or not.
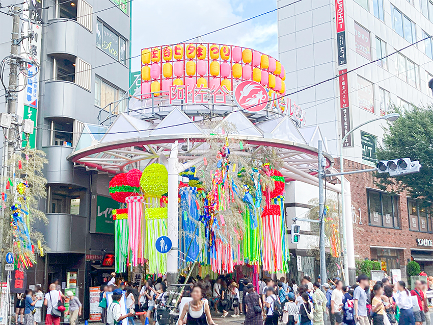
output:
[[[398,196],[367,190],[370,226],[400,228],[398,218]]]

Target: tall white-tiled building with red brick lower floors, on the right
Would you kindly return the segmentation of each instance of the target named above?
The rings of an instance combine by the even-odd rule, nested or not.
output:
[[[350,128],[387,114],[391,104],[404,110],[410,104],[431,103],[427,85],[433,78],[431,39],[368,64],[433,34],[429,0],[290,3],[277,1],[281,8],[279,58],[286,67],[287,93],[365,65],[345,78],[289,96],[305,111],[307,127],[320,126],[334,157],[340,154],[341,138]],[[375,165],[374,151],[382,143],[383,123],[367,124],[344,144],[345,170]],[[338,168],[338,159],[336,162]],[[388,274],[391,269],[404,270],[413,258],[421,269],[431,272],[433,247],[417,241],[431,238],[430,209],[419,208],[423,202],[412,201],[404,194],[391,196],[378,191],[371,177],[361,174],[347,178],[351,181],[353,216],[348,220],[354,220],[355,258],[379,260]],[[405,240],[396,239],[400,236]]]

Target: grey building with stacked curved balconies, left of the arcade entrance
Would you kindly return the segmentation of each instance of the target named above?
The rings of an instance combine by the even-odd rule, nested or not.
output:
[[[31,110],[37,113],[36,147],[49,161],[44,170],[47,199],[40,205],[49,223],[37,224],[36,229],[43,233],[50,251],[28,272],[28,285],[41,284],[46,290],[55,279],[69,286],[76,278],[77,294],[88,306],[89,286],[100,285],[112,271],[110,254],[106,254],[114,253],[110,209],[116,206],[108,192],[107,174],[74,167],[66,157],[83,127],[97,127],[92,124],[99,124],[104,109],[123,111],[125,107],[124,101],[109,104],[129,88],[130,3],[44,0],[42,7],[34,18],[43,23],[33,27],[40,37],[36,49],[40,51],[39,103],[36,108],[20,103],[19,113],[24,118]],[[3,58],[10,53],[12,17],[2,15],[0,28]],[[0,96],[2,110],[4,101]],[[104,256],[109,260],[105,268],[100,262]]]

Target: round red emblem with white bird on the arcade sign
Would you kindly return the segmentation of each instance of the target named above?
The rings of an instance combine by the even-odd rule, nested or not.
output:
[[[249,112],[264,110],[268,104],[266,89],[255,81],[242,81],[234,91],[237,106]]]

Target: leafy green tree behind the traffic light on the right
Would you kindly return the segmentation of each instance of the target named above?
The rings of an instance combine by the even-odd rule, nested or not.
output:
[[[393,123],[388,123],[383,147],[376,151],[377,160],[410,158],[419,160],[420,171],[407,176],[389,177],[376,173],[375,184],[382,190],[408,191],[413,198],[433,201],[433,106],[416,107],[402,111]]]

